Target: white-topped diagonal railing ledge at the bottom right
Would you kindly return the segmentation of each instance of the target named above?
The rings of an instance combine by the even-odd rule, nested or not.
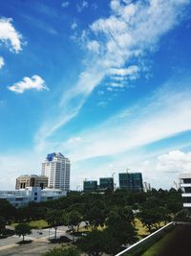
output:
[[[174,229],[176,222],[172,221],[167,225],[159,228],[156,232],[147,236],[146,238],[138,241],[138,243],[129,246],[123,251],[116,254],[116,256],[140,256],[144,251],[146,251],[151,245],[159,241],[161,237],[167,234],[169,231]]]

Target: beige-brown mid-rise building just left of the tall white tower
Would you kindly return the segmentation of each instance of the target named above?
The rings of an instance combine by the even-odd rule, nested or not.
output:
[[[41,189],[48,187],[48,177],[38,175],[21,175],[16,178],[15,189],[25,189],[27,187],[40,187]]]

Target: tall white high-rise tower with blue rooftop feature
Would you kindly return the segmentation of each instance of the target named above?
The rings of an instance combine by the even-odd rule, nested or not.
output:
[[[61,152],[49,153],[42,163],[41,175],[48,176],[51,189],[70,190],[71,163]]]

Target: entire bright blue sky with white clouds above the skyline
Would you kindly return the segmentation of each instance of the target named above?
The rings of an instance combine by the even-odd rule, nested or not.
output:
[[[0,2],[0,189],[46,155],[83,180],[191,172],[190,0]]]

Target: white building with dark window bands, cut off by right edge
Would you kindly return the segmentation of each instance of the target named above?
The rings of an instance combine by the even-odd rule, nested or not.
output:
[[[191,173],[182,173],[179,177],[183,207],[191,209]]]

